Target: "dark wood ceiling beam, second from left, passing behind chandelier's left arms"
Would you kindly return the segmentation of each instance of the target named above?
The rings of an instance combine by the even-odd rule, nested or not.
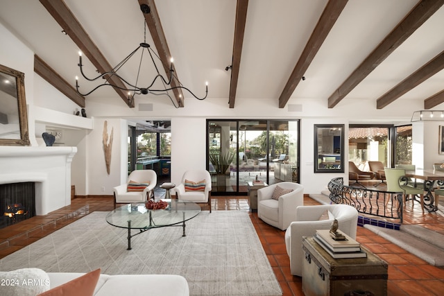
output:
[[[40,0],[40,3],[48,10],[49,14],[56,19],[62,29],[71,37],[71,40],[78,46],[80,51],[94,64],[94,67],[99,70],[100,73],[112,71],[112,66],[105,59],[105,56],[101,53],[96,44],[92,42],[89,35],[86,33],[83,26],[78,22],[71,10],[67,7],[64,1],[61,0]],[[117,85],[118,87],[126,88],[125,84],[116,76],[111,76],[109,79],[110,84]],[[123,89],[113,87],[119,94],[122,100],[134,107],[134,100],[131,105],[128,101],[128,93]]]

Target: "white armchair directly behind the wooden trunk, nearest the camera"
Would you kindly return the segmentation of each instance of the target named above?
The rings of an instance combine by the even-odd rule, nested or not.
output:
[[[326,211],[328,219],[319,220]],[[358,211],[348,204],[323,204],[296,209],[296,220],[285,232],[285,247],[290,258],[291,275],[302,276],[302,236],[314,236],[317,229],[330,229],[334,218],[338,220],[338,229],[341,232],[356,238]]]

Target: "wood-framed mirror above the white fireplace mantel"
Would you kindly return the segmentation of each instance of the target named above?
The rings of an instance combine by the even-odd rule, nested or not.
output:
[[[24,73],[0,64],[0,145],[29,145]]]

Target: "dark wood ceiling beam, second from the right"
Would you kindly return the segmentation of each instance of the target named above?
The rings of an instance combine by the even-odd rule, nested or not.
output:
[[[427,64],[420,67],[420,69],[416,70],[409,77],[402,80],[400,83],[398,83],[398,85],[377,98],[377,109],[382,109],[386,107],[386,105],[393,103],[393,101],[395,101],[397,98],[417,87],[442,69],[444,69],[444,51],[441,51],[441,53],[427,62]]]

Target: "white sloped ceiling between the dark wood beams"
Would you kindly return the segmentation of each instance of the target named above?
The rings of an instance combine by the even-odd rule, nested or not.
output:
[[[112,66],[143,42],[144,15],[137,0],[65,0],[65,3]],[[348,1],[290,101],[325,98],[327,105],[327,98],[417,3],[418,0]],[[275,98],[278,105],[282,89],[326,4],[327,0],[248,2],[236,102],[243,98]],[[203,96],[204,83],[208,81],[207,99],[228,101],[230,71],[225,71],[225,67],[232,64],[237,1],[156,0],[155,5],[182,84]],[[2,0],[0,6],[0,21],[74,86],[74,77],[79,75],[78,47],[61,33],[62,28],[40,1]],[[345,98],[376,101],[443,51],[442,28],[444,7]],[[146,42],[153,45],[149,31]],[[85,58],[83,63],[87,73],[95,73],[89,60]],[[125,75],[130,77],[135,73],[128,71]],[[439,71],[398,100],[424,101],[441,92],[443,82],[444,71]],[[85,81],[79,83],[84,91],[90,88]],[[189,97],[187,92],[184,95]],[[92,96],[117,94],[103,87]]]

